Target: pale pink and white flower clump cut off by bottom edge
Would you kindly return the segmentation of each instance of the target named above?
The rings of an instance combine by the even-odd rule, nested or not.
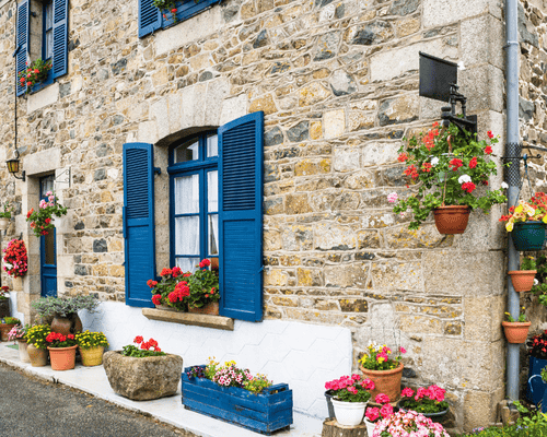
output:
[[[450,437],[441,424],[415,411],[398,411],[380,421],[374,428],[373,437],[388,436]]]

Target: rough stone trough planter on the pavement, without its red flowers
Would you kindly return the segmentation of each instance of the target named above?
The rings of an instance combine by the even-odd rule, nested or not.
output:
[[[176,394],[183,358],[173,354],[136,358],[109,351],[103,356],[103,366],[116,393],[133,401],[149,401]]]

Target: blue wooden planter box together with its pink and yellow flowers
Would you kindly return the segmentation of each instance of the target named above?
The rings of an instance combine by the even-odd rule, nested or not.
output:
[[[292,424],[289,386],[272,385],[266,375],[252,375],[235,362],[221,366],[209,359],[208,365],[185,368],[183,404],[187,410],[261,434],[269,435]]]

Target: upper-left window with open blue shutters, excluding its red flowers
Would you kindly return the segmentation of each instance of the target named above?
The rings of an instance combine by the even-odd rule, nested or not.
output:
[[[51,60],[48,78],[33,92],[67,74],[68,66],[68,0],[23,0],[18,4],[18,74],[38,58]],[[26,85],[18,82],[18,96]]]

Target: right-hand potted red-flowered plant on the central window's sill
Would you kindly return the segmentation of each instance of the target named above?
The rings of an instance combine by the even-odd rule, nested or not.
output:
[[[189,296],[188,311],[208,315],[219,314],[219,275],[210,270],[211,261],[207,258],[199,263],[199,270],[187,277]]]

